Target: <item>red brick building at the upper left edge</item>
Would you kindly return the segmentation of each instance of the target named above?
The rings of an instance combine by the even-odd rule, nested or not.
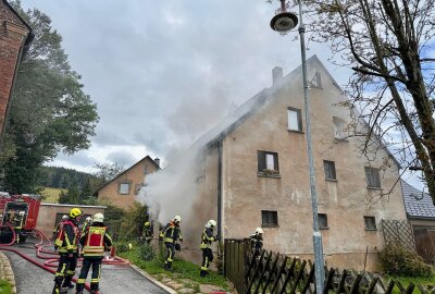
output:
[[[0,150],[14,78],[32,36],[26,22],[8,1],[0,0]]]

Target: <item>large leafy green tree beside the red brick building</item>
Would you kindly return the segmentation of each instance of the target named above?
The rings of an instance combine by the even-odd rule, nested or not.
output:
[[[60,151],[88,148],[98,122],[97,107],[83,90],[61,47],[62,37],[51,20],[34,9],[14,9],[33,28],[35,38],[23,57],[13,89],[1,157],[3,188],[32,193],[36,169]]]

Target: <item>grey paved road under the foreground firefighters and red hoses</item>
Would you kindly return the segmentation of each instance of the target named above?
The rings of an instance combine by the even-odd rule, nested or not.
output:
[[[30,242],[25,245],[15,245],[14,248],[20,248],[20,250],[27,256],[38,259],[36,258],[35,248],[33,248]],[[54,275],[52,273],[25,260],[15,253],[4,252],[4,254],[11,261],[18,294],[51,293],[54,284]],[[46,261],[42,259],[38,260],[41,261],[41,264]],[[77,274],[78,272],[79,269],[77,269]],[[102,294],[167,294],[165,290],[156,285],[129,266],[103,265],[101,277],[100,292]],[[88,275],[88,282],[89,279],[90,273]],[[75,293],[75,289],[70,290],[69,293]]]

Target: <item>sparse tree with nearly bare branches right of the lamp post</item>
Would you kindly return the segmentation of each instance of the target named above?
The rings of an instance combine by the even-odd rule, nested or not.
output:
[[[370,159],[376,144],[388,144],[402,168],[422,171],[435,204],[434,1],[303,3],[310,40],[331,44],[332,61],[353,70],[343,106],[355,114],[361,151]]]

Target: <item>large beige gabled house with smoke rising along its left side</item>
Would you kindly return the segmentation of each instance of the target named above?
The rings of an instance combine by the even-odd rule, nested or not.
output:
[[[358,154],[360,139],[346,137],[350,111],[337,106],[347,99],[344,91],[315,56],[307,64],[325,261],[373,270],[384,244],[382,220],[406,220],[396,184],[399,164],[385,147],[371,161]],[[275,68],[273,79],[190,148],[199,162],[191,177],[198,196],[190,213],[182,216],[182,254],[190,260],[200,260],[198,240],[209,219],[217,220],[221,240],[244,238],[262,226],[264,248],[313,257],[301,68],[286,76]],[[383,192],[388,196],[381,197]],[[173,208],[185,201],[181,196]]]

